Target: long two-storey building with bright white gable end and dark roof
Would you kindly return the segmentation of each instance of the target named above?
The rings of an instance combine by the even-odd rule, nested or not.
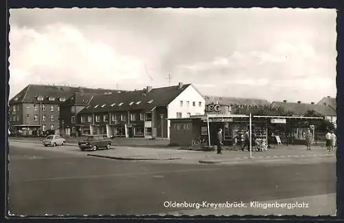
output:
[[[80,131],[117,137],[169,138],[169,118],[204,114],[205,99],[192,85],[94,95],[78,113]]]

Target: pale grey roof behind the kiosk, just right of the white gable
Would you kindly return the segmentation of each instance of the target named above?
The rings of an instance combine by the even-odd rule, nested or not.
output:
[[[256,98],[235,98],[235,97],[224,97],[224,96],[204,96],[206,104],[219,103],[222,105],[269,105],[268,100],[256,99]]]

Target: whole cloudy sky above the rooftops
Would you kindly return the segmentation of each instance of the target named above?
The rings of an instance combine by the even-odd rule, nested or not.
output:
[[[318,102],[336,96],[336,10],[11,9],[10,98],[29,83]]]

